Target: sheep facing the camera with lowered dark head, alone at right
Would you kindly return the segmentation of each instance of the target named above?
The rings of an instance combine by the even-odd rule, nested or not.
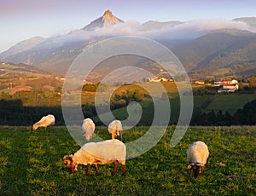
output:
[[[201,176],[203,170],[205,169],[205,164],[207,164],[207,159],[209,157],[209,151],[207,145],[203,141],[195,141],[187,149],[187,159],[189,162],[188,169],[189,176],[192,176],[194,171],[194,177],[198,175]]]

